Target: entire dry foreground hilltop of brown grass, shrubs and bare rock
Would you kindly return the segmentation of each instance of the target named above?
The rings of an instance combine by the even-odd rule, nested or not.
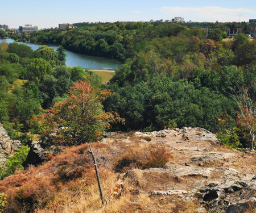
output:
[[[255,152],[203,128],[110,133],[91,145],[106,204],[83,144],[1,181],[4,212],[253,212]]]

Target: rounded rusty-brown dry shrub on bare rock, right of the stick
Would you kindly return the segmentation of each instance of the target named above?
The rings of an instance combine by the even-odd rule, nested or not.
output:
[[[143,147],[132,148],[122,154],[115,169],[118,172],[126,172],[132,168],[148,169],[164,166],[170,161],[172,154],[165,147],[153,147],[146,145]]]

